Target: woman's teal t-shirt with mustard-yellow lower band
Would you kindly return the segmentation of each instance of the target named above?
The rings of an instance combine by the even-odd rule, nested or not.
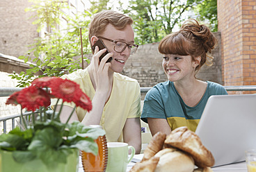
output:
[[[200,102],[194,107],[184,103],[182,97],[171,81],[159,83],[147,92],[143,105],[141,119],[147,123],[147,118],[167,119],[171,130],[187,126],[195,131],[211,95],[227,94],[222,85],[207,81],[207,89]]]

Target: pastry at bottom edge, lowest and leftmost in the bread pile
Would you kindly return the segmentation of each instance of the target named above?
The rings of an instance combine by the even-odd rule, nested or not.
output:
[[[129,172],[154,172],[159,162],[159,157],[151,157],[150,160],[137,162]]]

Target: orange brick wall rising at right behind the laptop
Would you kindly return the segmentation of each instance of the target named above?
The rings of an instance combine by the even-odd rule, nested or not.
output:
[[[256,85],[256,1],[218,0],[225,85]]]

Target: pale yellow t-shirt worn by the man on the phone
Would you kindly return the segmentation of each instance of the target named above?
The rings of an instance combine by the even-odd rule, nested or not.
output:
[[[90,100],[93,99],[95,89],[91,83],[87,68],[79,69],[61,78],[67,78],[78,83],[82,91],[90,97]],[[51,105],[56,105],[56,99],[52,100]],[[74,103],[64,103],[64,105],[74,107]],[[77,107],[76,112],[79,121],[82,121],[87,111]],[[122,129],[125,126],[126,119],[138,117],[141,117],[141,90],[138,81],[122,74],[114,73],[111,96],[104,106],[99,123],[106,131],[107,141],[122,141]]]

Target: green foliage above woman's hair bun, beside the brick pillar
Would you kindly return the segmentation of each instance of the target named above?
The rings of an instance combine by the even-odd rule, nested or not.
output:
[[[209,23],[211,31],[218,31],[217,0],[204,0],[195,8],[200,21]]]

